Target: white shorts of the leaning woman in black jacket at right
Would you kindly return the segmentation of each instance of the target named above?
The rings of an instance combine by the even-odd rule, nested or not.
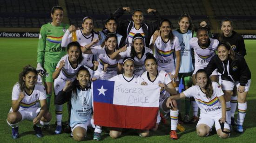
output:
[[[251,80],[249,79],[248,82],[245,84],[245,91],[249,91],[251,84]],[[233,91],[234,86],[238,88],[240,86],[239,81],[233,82],[233,81],[228,81],[228,80],[222,80],[222,90],[223,91]]]

